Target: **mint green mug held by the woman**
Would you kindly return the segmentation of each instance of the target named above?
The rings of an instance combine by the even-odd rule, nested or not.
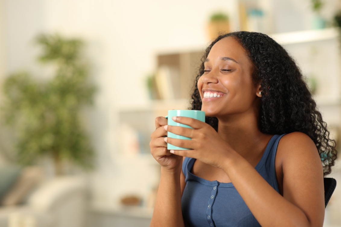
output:
[[[174,116],[180,116],[180,117],[191,117],[197,120],[201,120],[205,122],[205,111],[200,111],[200,110],[168,110],[168,115],[166,118],[168,119],[167,125],[173,125],[173,126],[181,126],[185,128],[192,128],[188,125],[180,124],[175,122],[172,117]],[[181,140],[191,140],[191,138],[182,136],[182,135],[176,135],[172,132],[167,132],[167,137],[170,138],[175,138],[175,139],[181,139]],[[182,147],[177,147],[172,144],[167,143],[167,149],[168,150],[190,150],[188,148],[182,148]]]

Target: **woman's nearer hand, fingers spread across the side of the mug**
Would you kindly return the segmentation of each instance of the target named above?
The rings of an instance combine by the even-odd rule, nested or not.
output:
[[[165,142],[192,150],[171,150],[170,152],[179,156],[195,158],[214,167],[222,168],[225,158],[232,149],[229,144],[218,135],[216,130],[210,125],[194,118],[172,117],[172,119],[175,122],[191,126],[193,129],[171,125],[166,125],[163,128],[168,132],[186,136],[192,140],[165,137]]]

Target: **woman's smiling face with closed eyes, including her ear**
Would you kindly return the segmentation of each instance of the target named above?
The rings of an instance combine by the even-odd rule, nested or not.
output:
[[[201,110],[206,116],[254,113],[261,95],[260,85],[252,81],[252,72],[253,64],[236,39],[226,37],[214,44],[198,80]]]

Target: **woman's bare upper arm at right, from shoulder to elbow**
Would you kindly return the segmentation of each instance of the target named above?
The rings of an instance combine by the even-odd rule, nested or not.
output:
[[[310,137],[301,132],[284,135],[277,147],[275,166],[283,197],[300,208],[311,223],[323,223],[323,167]]]

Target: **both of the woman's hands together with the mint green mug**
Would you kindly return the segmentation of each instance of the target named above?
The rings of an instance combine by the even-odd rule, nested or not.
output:
[[[202,116],[202,113],[196,115],[192,113],[188,114],[190,116],[184,116],[181,111],[179,114],[172,114],[168,111],[167,122],[163,117],[158,117],[155,120],[157,129],[152,133],[150,147],[153,157],[162,166],[170,169],[175,168],[179,164],[176,160],[182,159],[181,156],[186,156],[215,167],[221,167],[229,145],[218,135],[216,130],[205,123],[205,112],[203,114]],[[167,132],[168,137],[163,137]]]

